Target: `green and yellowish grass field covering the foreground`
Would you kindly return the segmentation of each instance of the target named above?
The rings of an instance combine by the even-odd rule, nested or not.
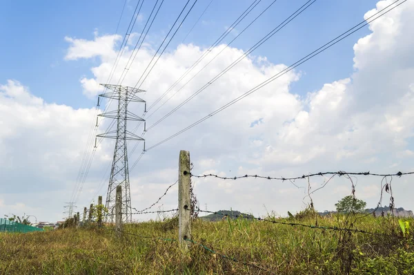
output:
[[[341,217],[281,219],[344,227]],[[405,219],[414,224],[413,219]],[[350,226],[348,222],[348,227]],[[0,234],[0,274],[414,274],[414,239],[395,218],[357,220],[354,228],[395,237],[277,225],[257,220],[195,220],[185,252],[177,241],[117,237],[109,229]],[[125,225],[130,234],[177,239],[177,219]],[[213,249],[213,254],[204,247]],[[239,262],[222,258],[226,255]]]

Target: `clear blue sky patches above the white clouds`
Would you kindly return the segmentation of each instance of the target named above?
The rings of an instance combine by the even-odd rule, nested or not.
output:
[[[118,33],[124,35],[137,1],[128,0]],[[210,0],[199,0],[193,12],[181,26],[181,30],[168,50],[179,44]],[[210,44],[253,1],[213,0],[197,26],[188,35],[185,43],[198,46]],[[253,19],[271,1],[262,1],[248,15]],[[144,20],[135,25],[133,31],[143,28],[153,1],[144,2],[141,14]],[[161,37],[175,20],[186,1],[164,1],[159,17],[152,26],[150,35]],[[294,4],[293,4],[294,3]],[[240,36],[233,46],[247,50],[255,41],[266,35],[277,24],[305,1],[278,0],[262,17]],[[63,61],[68,43],[64,37],[92,39],[95,29],[99,35],[115,33],[124,1],[3,1],[0,10],[0,79],[19,79],[30,86],[34,95],[47,102],[68,104],[75,108],[90,107],[95,101],[86,99],[81,93],[79,79],[90,77],[90,66],[96,60],[77,62]],[[367,10],[375,7],[372,0],[317,1],[302,15],[292,21],[281,32],[259,47],[254,55],[268,57],[273,63],[291,64],[328,39],[362,21]],[[353,71],[352,46],[358,37],[366,34],[367,28],[348,37],[346,41],[326,51],[324,55],[304,64],[300,82],[293,84],[293,93],[304,95],[315,91],[322,83],[331,82]],[[6,39],[8,37],[8,39]],[[12,37],[12,39],[10,39]],[[229,35],[224,42],[233,37]],[[6,64],[6,66],[4,66]]]

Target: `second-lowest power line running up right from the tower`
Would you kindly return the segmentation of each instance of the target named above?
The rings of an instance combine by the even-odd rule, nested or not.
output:
[[[161,117],[161,119],[157,120],[157,122],[155,122],[154,124],[152,124],[148,128],[148,131],[150,129],[154,128],[155,126],[157,126],[157,124],[159,124],[160,122],[162,122],[163,120],[165,120],[167,117],[169,117],[170,115],[172,115],[172,113],[175,113],[175,111],[177,111],[179,108],[181,108],[181,106],[184,106],[184,104],[186,104],[191,99],[193,99],[194,97],[196,97],[199,93],[201,93],[202,91],[204,91],[208,86],[210,86],[211,84],[213,84],[215,81],[217,81],[217,79],[219,79],[221,76],[223,76],[225,73],[227,73],[228,70],[230,70],[231,68],[233,68],[234,66],[236,66],[240,61],[242,61],[242,59],[244,59],[248,55],[250,55],[250,53],[253,53],[253,51],[256,48],[258,48],[259,46],[261,46],[262,44],[264,44],[264,42],[266,42],[268,39],[270,39],[270,37],[273,37],[273,35],[275,35],[277,32],[279,32],[279,30],[282,30],[282,28],[284,28],[284,26],[286,26],[290,21],[292,21],[293,19],[295,19],[302,12],[304,12],[307,8],[309,8],[313,3],[315,3],[315,1],[316,0],[313,0],[313,1],[312,0],[309,0],[309,1],[307,1],[302,7],[300,7],[299,9],[297,9],[295,12],[293,12],[292,15],[290,15],[282,23],[280,23],[279,26],[277,26],[276,28],[274,28],[273,30],[271,30],[265,37],[263,37],[262,39],[260,39],[259,42],[257,42],[254,46],[252,46],[249,50],[247,50],[246,53],[244,53],[242,56],[240,56],[235,61],[233,61],[232,64],[230,64],[224,70],[222,70],[221,73],[219,73],[218,75],[216,75],[215,77],[213,77],[213,79],[210,79],[209,82],[207,82],[206,84],[204,84],[204,86],[202,86],[201,88],[199,88],[199,90],[197,90],[195,93],[193,93],[193,95],[190,95],[190,97],[188,97],[186,100],[184,100],[184,102],[181,102],[181,104],[179,104],[178,106],[176,106],[175,108],[173,108],[172,111],[170,111],[169,113],[167,113],[166,115],[164,115],[164,117]]]

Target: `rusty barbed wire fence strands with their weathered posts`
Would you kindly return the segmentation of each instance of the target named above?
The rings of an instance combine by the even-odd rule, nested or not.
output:
[[[356,187],[356,182],[354,180],[355,176],[376,176],[376,177],[382,177],[381,180],[381,194],[380,194],[380,200],[377,204],[377,207],[374,209],[377,210],[380,205],[382,205],[382,200],[383,200],[383,195],[384,195],[384,191],[386,191],[386,193],[389,193],[391,198],[390,198],[390,208],[391,210],[394,209],[394,197],[393,197],[393,190],[391,187],[391,183],[393,182],[393,177],[402,177],[402,176],[407,176],[407,175],[413,175],[414,171],[412,172],[397,172],[397,173],[388,173],[388,174],[381,174],[381,173],[371,173],[370,171],[368,172],[346,172],[346,171],[326,171],[326,172],[319,172],[319,173],[310,173],[308,175],[302,175],[302,176],[297,176],[297,177],[292,177],[292,178],[284,178],[284,177],[270,177],[270,176],[259,176],[259,175],[244,175],[244,176],[235,176],[235,177],[224,177],[224,176],[219,176],[217,174],[204,174],[204,175],[194,175],[193,173],[190,172],[191,170],[191,165],[190,165],[190,153],[188,151],[180,151],[180,157],[179,157],[179,179],[174,182],[173,184],[170,184],[166,191],[164,192],[163,195],[161,195],[158,200],[154,203],[152,203],[152,205],[150,205],[149,207],[146,207],[145,209],[142,210],[137,210],[136,208],[132,207],[132,209],[134,209],[136,212],[130,213],[131,215],[140,215],[140,214],[159,214],[159,213],[172,213],[175,212],[175,214],[178,214],[178,224],[179,224],[179,228],[178,228],[178,238],[174,239],[174,238],[161,238],[161,237],[157,237],[157,236],[143,236],[143,235],[139,235],[139,234],[133,234],[130,233],[128,231],[125,231],[122,228],[122,221],[121,221],[121,216],[123,216],[124,214],[121,213],[121,210],[116,211],[115,213],[115,220],[117,221],[115,224],[115,229],[108,229],[110,231],[115,231],[116,234],[118,234],[118,236],[121,236],[121,234],[125,234],[125,235],[129,235],[129,236],[135,236],[138,238],[147,238],[147,239],[153,239],[153,240],[164,240],[164,241],[169,241],[169,242],[178,242],[179,245],[181,245],[181,247],[183,247],[184,249],[188,249],[188,247],[190,247],[191,243],[200,246],[204,249],[206,249],[208,252],[211,252],[213,254],[217,254],[219,256],[221,256],[221,258],[225,258],[228,260],[233,260],[235,263],[240,263],[242,265],[246,265],[246,266],[250,266],[250,267],[254,267],[256,269],[259,269],[260,271],[263,272],[269,272],[271,274],[274,274],[272,271],[265,269],[263,267],[260,267],[258,265],[256,265],[255,263],[246,263],[244,261],[240,261],[237,260],[235,258],[232,258],[230,256],[226,256],[224,254],[219,254],[217,252],[215,252],[213,249],[206,247],[206,245],[203,245],[195,240],[193,240],[193,237],[191,236],[191,223],[193,221],[193,218],[191,218],[191,215],[189,215],[188,213],[206,213],[206,214],[216,214],[216,215],[220,215],[220,216],[226,216],[228,218],[246,218],[246,219],[250,219],[250,220],[257,220],[257,221],[263,221],[263,222],[270,222],[273,224],[277,224],[277,225],[287,225],[287,226],[295,226],[295,227],[305,227],[305,228],[309,228],[309,229],[321,229],[321,230],[329,230],[329,231],[339,231],[339,232],[344,232],[346,234],[349,234],[349,236],[351,236],[351,234],[367,234],[367,235],[371,235],[371,236],[382,236],[382,237],[388,237],[388,238],[397,238],[397,239],[401,239],[404,238],[404,236],[399,236],[397,233],[395,233],[394,231],[391,232],[391,234],[386,234],[386,233],[377,233],[374,231],[366,231],[363,229],[357,229],[355,227],[355,222],[357,219],[359,218],[363,218],[365,216],[371,215],[373,214],[373,212],[370,212],[369,214],[366,215],[362,215],[362,216],[355,216],[355,211],[350,211],[347,215],[346,215],[346,219],[344,221],[344,225],[343,227],[337,227],[337,226],[324,226],[324,225],[317,225],[317,220],[315,222],[315,225],[308,225],[305,223],[301,223],[301,222],[290,222],[289,220],[278,220],[275,218],[259,218],[259,217],[255,217],[253,215],[233,215],[233,214],[225,214],[225,213],[221,213],[221,211],[207,211],[207,210],[201,210],[199,209],[199,207],[195,207],[193,204],[195,203],[192,199],[192,191],[190,189],[191,183],[190,183],[190,179],[191,178],[218,178],[220,180],[239,180],[242,178],[260,178],[260,179],[264,179],[264,180],[288,180],[290,182],[293,183],[293,181],[295,180],[301,180],[301,179],[307,179],[308,180],[308,193],[307,196],[305,196],[304,198],[308,197],[311,200],[310,203],[310,207],[311,209],[313,209],[313,200],[311,195],[313,193],[315,193],[315,191],[322,189],[326,186],[326,184],[328,184],[328,182],[330,180],[332,180],[332,178],[334,178],[335,176],[344,176],[345,178],[347,178],[348,180],[351,181],[351,197],[353,199],[355,199],[355,187]],[[319,187],[317,189],[315,189],[314,191],[310,191],[310,178],[311,177],[315,177],[315,176],[328,176],[328,180],[324,180],[324,184],[322,187]],[[159,210],[159,211],[146,211],[148,209],[151,209],[152,207],[154,207],[155,205],[157,205],[158,202],[160,202],[160,200],[162,198],[164,198],[164,196],[166,196],[166,194],[168,193],[168,191],[171,189],[172,186],[174,186],[175,184],[179,184],[179,190],[178,190],[178,200],[179,200],[179,206],[177,209],[168,209],[168,210]],[[118,190],[117,190],[118,191]],[[121,194],[121,191],[119,191],[119,194]],[[121,196],[117,196],[117,204],[121,205]],[[190,211],[190,212],[188,212]],[[393,212],[392,212],[393,213]],[[351,217],[351,214],[353,214],[354,218],[353,221],[349,220],[348,218]],[[78,220],[79,222],[79,220]],[[103,228],[105,229],[105,228]]]

